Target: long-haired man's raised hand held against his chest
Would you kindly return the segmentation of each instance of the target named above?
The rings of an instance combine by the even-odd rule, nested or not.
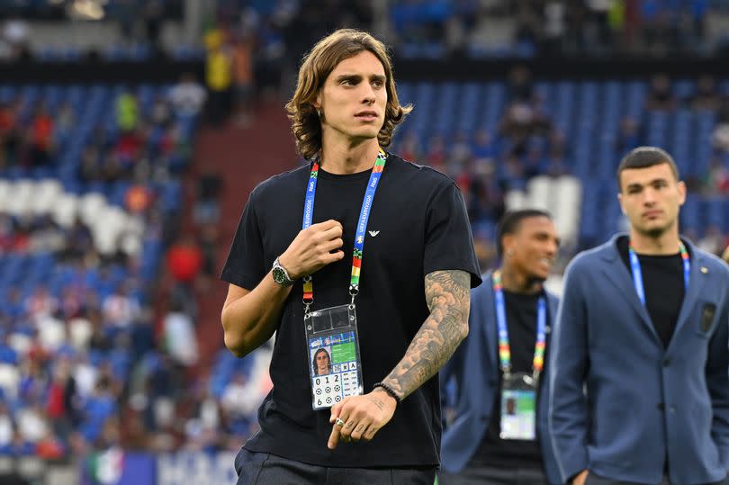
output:
[[[292,280],[298,280],[342,259],[342,245],[342,225],[337,220],[326,220],[299,231],[278,262]]]

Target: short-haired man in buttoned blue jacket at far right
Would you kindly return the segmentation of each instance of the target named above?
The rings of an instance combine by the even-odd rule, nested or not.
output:
[[[617,178],[629,234],[572,261],[552,337],[562,480],[729,483],[729,270],[680,238],[668,153],[635,148]]]

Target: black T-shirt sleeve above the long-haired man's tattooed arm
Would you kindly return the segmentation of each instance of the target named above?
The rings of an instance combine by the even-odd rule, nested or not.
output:
[[[472,288],[481,284],[464,196],[455,184],[448,184],[437,193],[426,217],[424,274],[463,270],[471,274]]]

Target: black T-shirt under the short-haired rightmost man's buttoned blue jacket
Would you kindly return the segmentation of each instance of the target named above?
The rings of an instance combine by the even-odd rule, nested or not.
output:
[[[617,239],[620,257],[633,280],[628,244],[629,240],[626,236]],[[689,250],[687,246],[687,251]],[[686,294],[683,281],[683,259],[680,253],[668,256],[640,254],[637,256],[643,274],[646,310],[648,310],[658,337],[661,337],[663,346],[668,348],[676,322],[679,321],[681,304]]]

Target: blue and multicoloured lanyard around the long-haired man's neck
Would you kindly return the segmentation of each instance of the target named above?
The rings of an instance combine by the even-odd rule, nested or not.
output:
[[[370,211],[372,210],[372,202],[374,201],[374,193],[377,191],[377,185],[383,175],[383,169],[387,162],[387,155],[383,149],[377,153],[377,159],[374,161],[370,181],[367,183],[365,199],[362,201],[362,209],[359,211],[359,220],[357,221],[357,229],[355,235],[355,250],[352,256],[352,276],[349,279],[349,294],[352,296],[352,304],[359,292],[359,275],[362,268],[362,256],[365,249],[365,232],[367,229],[367,220],[370,219]],[[319,160],[315,161],[311,166],[311,175],[309,175],[309,184],[306,187],[306,200],[304,202],[304,213],[302,229],[311,226],[314,216],[314,197],[317,193],[317,178],[319,176]],[[303,304],[304,314],[309,313],[311,303],[314,301],[314,283],[311,281],[311,274],[303,277]]]

